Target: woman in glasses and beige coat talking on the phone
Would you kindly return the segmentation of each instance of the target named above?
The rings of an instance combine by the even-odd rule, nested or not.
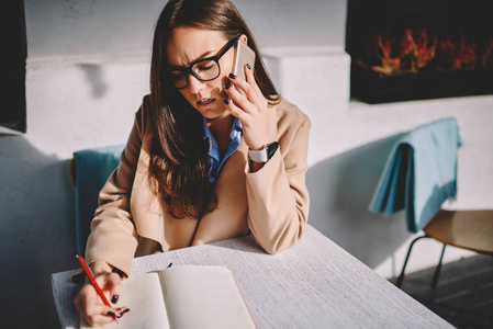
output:
[[[256,53],[245,80],[229,75],[238,38]],[[310,125],[278,95],[232,3],[169,1],[155,30],[150,94],[100,193],[87,246],[112,302],[137,256],[248,234],[269,253],[293,246],[309,213]],[[75,303],[92,326],[125,310],[104,306],[90,284]]]

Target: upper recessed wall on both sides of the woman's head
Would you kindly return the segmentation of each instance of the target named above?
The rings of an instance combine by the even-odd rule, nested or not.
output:
[[[147,56],[166,0],[25,1],[30,60]],[[261,47],[344,48],[346,1],[237,0]]]

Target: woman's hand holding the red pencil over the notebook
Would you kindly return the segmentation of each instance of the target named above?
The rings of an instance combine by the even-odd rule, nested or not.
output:
[[[102,260],[94,261],[90,266],[101,290],[110,292],[110,302],[116,304],[122,290],[120,275],[114,273],[113,268]],[[86,284],[80,288],[74,304],[91,327],[104,326],[114,321],[114,316],[120,318],[130,310],[127,307],[112,308],[104,305],[89,281],[86,281]]]

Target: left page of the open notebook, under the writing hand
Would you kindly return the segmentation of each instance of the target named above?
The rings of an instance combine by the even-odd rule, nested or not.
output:
[[[131,276],[122,282],[122,294],[116,307],[126,306],[131,310],[104,329],[169,329],[166,306],[157,273]],[[90,328],[81,319],[80,328]]]

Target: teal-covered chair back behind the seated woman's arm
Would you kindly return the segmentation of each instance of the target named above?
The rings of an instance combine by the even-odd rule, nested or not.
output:
[[[90,223],[98,207],[99,192],[120,164],[124,145],[100,147],[74,152],[69,172],[76,186],[77,252],[85,254]]]

